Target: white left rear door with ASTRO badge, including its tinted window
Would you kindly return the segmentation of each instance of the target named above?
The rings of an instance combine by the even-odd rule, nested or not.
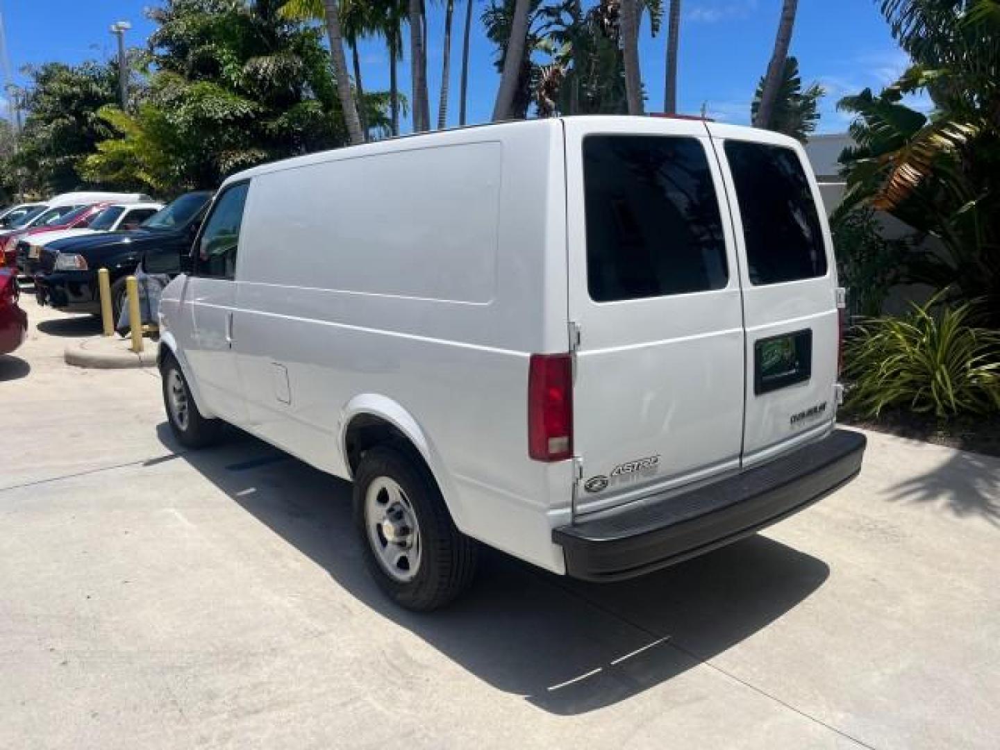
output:
[[[733,226],[702,122],[564,122],[575,510],[739,468]]]

